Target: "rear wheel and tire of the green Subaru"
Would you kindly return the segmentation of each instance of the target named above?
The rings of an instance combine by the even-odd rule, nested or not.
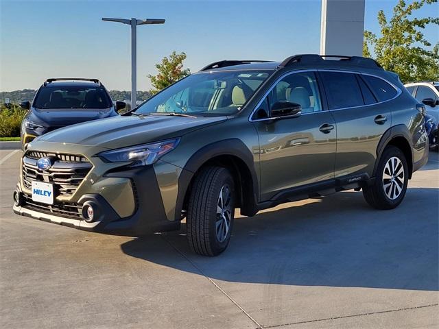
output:
[[[364,187],[363,195],[373,208],[393,209],[403,201],[407,183],[407,159],[401,149],[388,146],[379,159],[375,184]]]

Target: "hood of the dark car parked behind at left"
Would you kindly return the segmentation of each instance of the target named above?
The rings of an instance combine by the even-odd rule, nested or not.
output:
[[[43,123],[49,127],[64,127],[84,121],[91,121],[108,117],[112,113],[112,108],[104,109],[50,109],[41,110],[34,108],[29,117],[30,121]]]

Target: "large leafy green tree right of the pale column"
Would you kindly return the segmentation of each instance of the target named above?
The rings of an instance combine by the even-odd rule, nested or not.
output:
[[[439,80],[439,43],[431,49],[431,43],[423,34],[425,26],[439,25],[438,8],[433,10],[436,12],[435,17],[420,19],[414,13],[423,5],[437,1],[418,0],[406,3],[399,0],[390,21],[383,10],[380,10],[378,23],[381,35],[364,32],[363,56],[372,57],[373,53],[384,69],[398,73],[403,82]]]

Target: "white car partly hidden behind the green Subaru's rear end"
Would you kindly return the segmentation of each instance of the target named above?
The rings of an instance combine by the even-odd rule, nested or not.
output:
[[[439,123],[439,82],[414,82],[404,86],[414,98],[425,104],[427,114]]]

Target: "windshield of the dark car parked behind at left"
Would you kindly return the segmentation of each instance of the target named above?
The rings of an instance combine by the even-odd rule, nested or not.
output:
[[[35,108],[110,108],[110,97],[102,87],[47,86],[36,94]]]

